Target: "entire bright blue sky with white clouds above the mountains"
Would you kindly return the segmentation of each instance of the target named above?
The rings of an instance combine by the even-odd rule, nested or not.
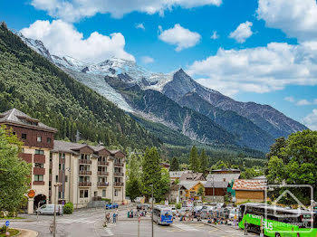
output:
[[[82,2],[1,1],[0,20],[55,54],[183,68],[235,100],[269,104],[317,129],[315,0]]]

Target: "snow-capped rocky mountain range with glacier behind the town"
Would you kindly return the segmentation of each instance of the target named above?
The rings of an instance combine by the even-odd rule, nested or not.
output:
[[[70,56],[51,55],[42,42],[27,39],[21,33],[19,36],[62,71],[120,109],[178,129],[183,135],[202,143],[207,140],[213,143],[215,137],[210,137],[210,133],[217,131],[221,134],[224,128],[229,133],[226,137],[235,140],[236,144],[265,151],[274,138],[307,129],[271,106],[235,101],[216,90],[207,89],[182,69],[170,73],[150,72],[136,62],[118,58],[100,63],[81,62]],[[198,121],[206,124],[209,134],[199,127]]]

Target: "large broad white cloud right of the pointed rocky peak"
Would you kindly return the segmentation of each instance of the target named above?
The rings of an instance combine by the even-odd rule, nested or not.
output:
[[[266,47],[224,50],[187,68],[208,88],[233,96],[264,93],[287,85],[317,85],[317,48],[314,44],[269,43]]]

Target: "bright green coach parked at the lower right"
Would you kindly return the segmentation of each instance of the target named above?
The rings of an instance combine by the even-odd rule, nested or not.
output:
[[[273,237],[317,237],[317,214],[307,210],[285,209],[268,204],[241,204],[239,227],[248,223],[250,232]]]

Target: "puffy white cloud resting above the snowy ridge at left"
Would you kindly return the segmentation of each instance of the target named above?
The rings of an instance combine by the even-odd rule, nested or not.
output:
[[[111,33],[110,36],[98,32],[91,33],[83,39],[72,24],[56,20],[36,21],[28,28],[21,30],[25,37],[40,40],[56,55],[70,55],[85,62],[101,62],[112,56],[132,60],[134,57],[125,52],[125,39],[121,33]]]

